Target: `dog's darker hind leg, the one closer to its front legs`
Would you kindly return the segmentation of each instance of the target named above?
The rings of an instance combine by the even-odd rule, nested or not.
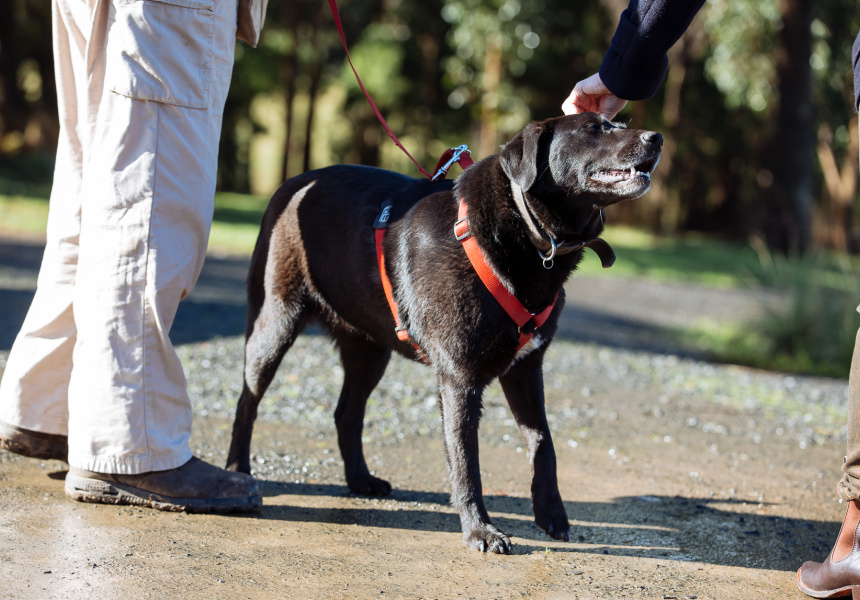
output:
[[[387,496],[391,484],[370,474],[361,446],[361,431],[367,399],[385,373],[391,351],[363,336],[341,333],[335,337],[344,373],[334,420],[346,484],[354,494]]]

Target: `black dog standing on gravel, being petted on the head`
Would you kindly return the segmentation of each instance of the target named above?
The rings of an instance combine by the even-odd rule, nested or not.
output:
[[[658,133],[583,114],[529,125],[453,183],[345,165],[287,181],[263,217],[251,262],[245,385],[228,468],[250,472],[257,405],[287,349],[316,318],[343,362],[335,422],[350,490],[390,492],[365,464],[365,405],[392,350],[411,358],[423,353],[438,380],[451,501],[464,542],[511,551],[484,507],[478,466],[481,394],[496,377],[531,456],[535,521],[567,540],[544,411],[543,355],[564,304],[562,286],[583,248],[597,251],[605,266],[614,260],[597,237],[603,209],[648,190],[662,143]],[[384,265],[408,337],[395,331],[377,264],[374,221],[384,200],[393,201]],[[458,216],[461,201],[466,218]],[[515,323],[479,278],[464,251],[470,240],[496,287],[525,307],[526,322]]]

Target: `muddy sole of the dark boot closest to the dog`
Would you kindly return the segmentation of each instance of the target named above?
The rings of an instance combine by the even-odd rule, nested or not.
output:
[[[258,510],[260,494],[240,498],[172,498],[131,485],[89,477],[66,475],[66,495],[78,502],[148,506],[156,510],[187,513],[237,513]]]

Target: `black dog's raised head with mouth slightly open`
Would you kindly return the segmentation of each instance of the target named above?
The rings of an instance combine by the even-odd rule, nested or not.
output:
[[[512,181],[538,197],[561,192],[608,206],[648,191],[662,146],[659,133],[583,113],[532,123],[499,160]]]

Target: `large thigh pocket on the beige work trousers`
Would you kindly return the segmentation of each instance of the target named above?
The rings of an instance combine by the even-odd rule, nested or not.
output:
[[[188,108],[209,106],[215,0],[114,0],[111,91]]]

